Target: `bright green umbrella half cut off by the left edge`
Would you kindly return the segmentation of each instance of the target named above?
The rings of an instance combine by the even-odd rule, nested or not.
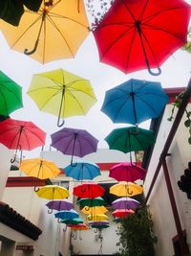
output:
[[[0,115],[9,116],[23,107],[22,87],[0,71]]]

